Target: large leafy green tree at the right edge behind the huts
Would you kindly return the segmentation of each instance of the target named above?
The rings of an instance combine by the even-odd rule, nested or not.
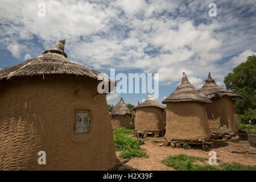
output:
[[[248,109],[255,109],[256,102],[256,56],[247,57],[224,78],[226,88],[240,94],[243,98],[235,101],[236,113],[245,114]]]

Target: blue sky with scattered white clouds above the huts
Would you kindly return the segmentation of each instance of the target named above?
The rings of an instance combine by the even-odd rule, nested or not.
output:
[[[110,75],[159,73],[158,101],[182,72],[200,88],[208,72],[224,77],[256,53],[256,1],[13,1],[0,0],[0,68],[41,55],[66,39],[68,59]],[[46,16],[42,14],[42,3]],[[110,94],[136,105],[147,94]]]

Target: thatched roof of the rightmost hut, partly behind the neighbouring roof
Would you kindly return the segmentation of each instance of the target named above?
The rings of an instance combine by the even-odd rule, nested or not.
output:
[[[226,90],[220,86],[218,86],[215,82],[215,80],[212,79],[212,77],[210,76],[210,72],[208,75],[207,80],[205,80],[204,85],[202,86],[202,88],[199,89],[199,92],[204,94],[204,96],[207,96],[207,98],[211,99],[211,98],[216,98],[216,97],[222,97],[222,96],[230,96],[230,97],[240,97],[242,98],[242,96],[230,92],[229,90]]]

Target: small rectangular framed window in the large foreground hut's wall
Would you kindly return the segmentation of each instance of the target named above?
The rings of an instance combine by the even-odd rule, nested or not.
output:
[[[89,133],[90,111],[75,110],[74,133]]]

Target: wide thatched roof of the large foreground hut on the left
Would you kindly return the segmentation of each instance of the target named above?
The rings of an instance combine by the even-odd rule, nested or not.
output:
[[[97,80],[98,71],[73,63],[67,59],[64,52],[65,39],[60,40],[52,49],[43,52],[43,55],[24,61],[21,64],[7,67],[0,71],[0,80],[14,76],[35,76],[68,74],[86,76]]]

